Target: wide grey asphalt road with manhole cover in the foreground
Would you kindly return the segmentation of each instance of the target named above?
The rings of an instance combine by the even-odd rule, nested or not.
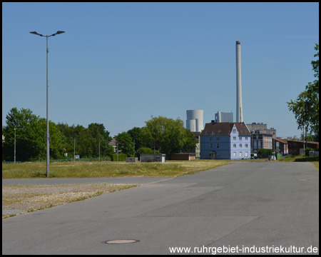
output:
[[[113,240],[137,242],[103,243]],[[318,254],[319,172],[311,163],[234,163],[2,220],[2,254],[150,255],[172,247]]]

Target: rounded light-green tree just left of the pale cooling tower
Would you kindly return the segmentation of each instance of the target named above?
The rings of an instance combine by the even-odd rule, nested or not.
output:
[[[156,148],[161,153],[178,153],[180,150],[195,147],[197,143],[193,133],[184,128],[184,123],[180,119],[153,117],[146,121],[142,132],[146,146]]]

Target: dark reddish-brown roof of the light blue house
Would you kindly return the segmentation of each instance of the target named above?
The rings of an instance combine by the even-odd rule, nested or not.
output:
[[[250,131],[248,131],[244,122],[218,122],[205,124],[205,128],[200,133],[200,136],[230,136],[234,126],[238,130],[240,136],[250,136]]]

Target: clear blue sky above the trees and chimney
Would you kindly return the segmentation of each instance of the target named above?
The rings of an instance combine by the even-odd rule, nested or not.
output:
[[[319,3],[2,3],[2,125],[10,109],[111,136],[151,116],[203,109],[236,118],[235,41],[243,119],[300,136],[287,101],[314,81]]]

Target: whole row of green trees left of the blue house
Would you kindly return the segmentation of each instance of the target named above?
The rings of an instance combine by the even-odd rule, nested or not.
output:
[[[195,136],[183,126],[180,119],[163,116],[146,121],[143,128],[134,127],[118,133],[118,149],[127,156],[141,153],[178,153],[188,151],[197,143]],[[2,161],[14,160],[14,131],[16,131],[16,161],[39,161],[46,159],[46,119],[30,109],[13,108],[6,115],[2,128],[5,142],[2,144]],[[113,156],[114,149],[108,143],[111,136],[103,124],[91,123],[87,128],[49,121],[50,158],[101,158]],[[67,153],[67,156],[66,156]]]

